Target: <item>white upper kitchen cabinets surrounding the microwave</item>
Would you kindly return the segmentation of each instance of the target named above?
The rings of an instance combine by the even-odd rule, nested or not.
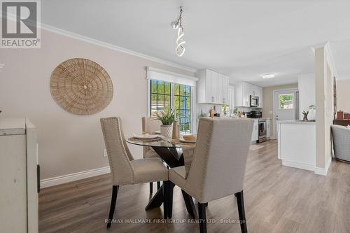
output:
[[[236,83],[235,106],[249,107],[251,95],[259,97],[259,107],[262,108],[262,87],[246,82]]]

